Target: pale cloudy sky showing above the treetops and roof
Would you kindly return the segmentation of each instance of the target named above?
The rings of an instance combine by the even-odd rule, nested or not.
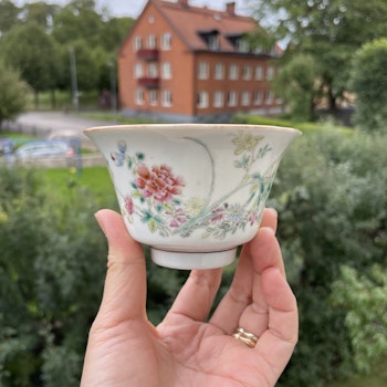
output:
[[[144,9],[147,0],[95,0],[98,8],[106,7],[109,10],[109,13],[114,17],[132,17],[137,18],[142,10]],[[177,0],[168,0],[171,2],[176,2]],[[203,7],[215,10],[224,10],[226,3],[231,0],[189,0],[191,6]],[[237,13],[243,13],[243,9],[245,8],[244,0],[233,0],[236,2],[236,11]],[[13,1],[17,6],[22,6],[27,2],[35,2],[33,0],[15,0]],[[56,4],[66,4],[69,1],[66,0],[44,0],[48,3],[56,3]]]

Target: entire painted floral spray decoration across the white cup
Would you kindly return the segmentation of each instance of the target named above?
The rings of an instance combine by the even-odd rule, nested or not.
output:
[[[271,182],[276,170],[276,163],[265,172],[253,171],[258,160],[272,151],[270,145],[262,145],[263,135],[240,132],[230,140],[234,147],[233,167],[241,169],[242,178],[233,188],[218,199],[212,200],[216,185],[216,168],[211,150],[198,138],[185,137],[201,146],[211,160],[211,188],[206,196],[187,197],[185,189],[189,180],[178,176],[167,164],[149,164],[147,155],[130,151],[130,144],[117,142],[117,149],[112,149],[109,157],[116,167],[128,168],[133,177],[127,184],[129,194],[122,195],[122,212],[127,221],[137,217],[147,228],[160,237],[189,237],[194,231],[201,232],[201,238],[224,239],[237,230],[244,230],[261,221],[262,206],[269,196]],[[240,190],[249,189],[243,202],[233,200]]]

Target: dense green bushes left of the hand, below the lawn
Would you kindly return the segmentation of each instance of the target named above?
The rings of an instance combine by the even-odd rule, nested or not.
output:
[[[0,185],[0,385],[74,386],[106,266],[97,203],[28,169]]]

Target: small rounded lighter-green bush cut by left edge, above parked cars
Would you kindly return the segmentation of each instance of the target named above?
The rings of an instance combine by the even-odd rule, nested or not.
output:
[[[6,119],[23,112],[29,92],[19,73],[0,61],[0,130]]]

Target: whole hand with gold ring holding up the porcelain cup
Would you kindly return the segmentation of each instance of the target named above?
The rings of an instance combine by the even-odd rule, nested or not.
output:
[[[109,245],[100,312],[90,332],[81,387],[274,386],[297,341],[295,297],[266,209],[257,237],[241,252],[234,279],[208,322],[221,269],[194,270],[163,323],[146,316],[143,249],[122,217],[96,219]],[[249,347],[232,336],[259,337]]]

